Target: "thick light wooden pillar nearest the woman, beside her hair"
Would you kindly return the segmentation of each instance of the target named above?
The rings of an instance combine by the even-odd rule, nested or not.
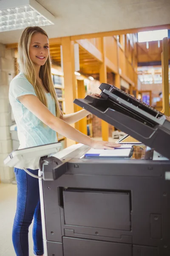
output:
[[[65,113],[74,113],[77,111],[77,106],[73,103],[77,98],[76,77],[74,74],[74,41],[70,37],[64,37],[62,43],[62,58],[64,72],[64,89],[65,89]],[[78,122],[72,124],[78,129]],[[75,144],[73,140],[67,139],[67,147]]]

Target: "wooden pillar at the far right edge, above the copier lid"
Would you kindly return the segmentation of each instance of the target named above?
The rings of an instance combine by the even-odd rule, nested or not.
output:
[[[163,38],[163,52],[161,53],[162,60],[162,113],[169,116],[169,67],[168,67],[168,38]]]

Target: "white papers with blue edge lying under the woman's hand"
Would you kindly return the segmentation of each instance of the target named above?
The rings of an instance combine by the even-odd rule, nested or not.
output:
[[[133,145],[124,144],[115,149],[94,149],[91,148],[85,157],[129,157]]]

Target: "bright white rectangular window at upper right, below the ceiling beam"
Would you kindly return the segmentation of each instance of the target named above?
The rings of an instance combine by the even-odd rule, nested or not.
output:
[[[167,37],[167,29],[139,32],[138,42],[159,41],[164,37]]]

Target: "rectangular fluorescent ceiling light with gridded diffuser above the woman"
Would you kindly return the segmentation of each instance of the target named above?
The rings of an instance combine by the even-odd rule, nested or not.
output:
[[[36,0],[0,0],[0,32],[54,23],[54,15]]]

